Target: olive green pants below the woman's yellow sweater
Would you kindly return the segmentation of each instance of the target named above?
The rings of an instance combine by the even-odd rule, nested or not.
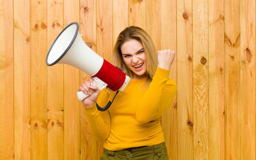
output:
[[[168,160],[164,142],[148,146],[109,151],[104,148],[101,160]]]

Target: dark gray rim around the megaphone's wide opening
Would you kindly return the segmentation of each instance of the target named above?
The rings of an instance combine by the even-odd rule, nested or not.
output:
[[[74,36],[73,36],[73,38],[72,38],[70,44],[67,46],[67,49],[65,49],[65,51],[61,54],[61,56],[60,56],[56,61],[54,61],[54,62],[52,62],[51,64],[49,64],[49,63],[47,62],[47,60],[48,60],[48,56],[49,56],[50,52],[52,51],[52,47],[54,46],[54,44],[55,44],[55,42],[58,40],[58,38],[61,36],[61,34],[62,34],[68,27],[70,27],[70,26],[73,25],[73,24],[76,24],[76,32],[75,32],[75,34],[74,34]],[[61,60],[61,58],[63,58],[63,56],[65,56],[65,54],[67,53],[67,51],[70,49],[70,47],[71,47],[72,44],[74,43],[74,41],[75,41],[75,39],[76,39],[76,36],[77,36],[77,34],[78,34],[78,31],[79,31],[79,24],[78,24],[77,22],[72,22],[72,23],[68,24],[67,27],[65,27],[65,28],[61,31],[61,33],[59,33],[59,35],[58,35],[58,36],[56,37],[56,39],[54,40],[54,42],[52,43],[52,46],[50,47],[50,49],[49,49],[49,51],[48,51],[48,53],[47,53],[46,60],[45,60],[47,66],[52,66],[52,65],[56,64],[59,60]]]

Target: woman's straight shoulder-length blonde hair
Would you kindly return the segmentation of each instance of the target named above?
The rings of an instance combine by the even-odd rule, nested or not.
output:
[[[112,64],[125,70],[126,75],[132,78],[133,72],[124,63],[121,53],[121,46],[131,39],[138,40],[144,47],[147,68],[147,82],[144,84],[144,87],[148,87],[157,69],[157,50],[148,33],[140,27],[130,26],[119,33],[112,53]]]

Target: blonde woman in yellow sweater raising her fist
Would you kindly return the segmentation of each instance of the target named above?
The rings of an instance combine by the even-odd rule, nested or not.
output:
[[[168,78],[174,58],[174,51],[156,51],[143,29],[130,26],[119,34],[112,53],[112,64],[131,78],[124,91],[100,91],[92,78],[79,87],[90,94],[82,103],[90,131],[104,142],[101,160],[168,160],[159,118],[177,91]],[[107,111],[97,110],[97,104],[112,100]]]

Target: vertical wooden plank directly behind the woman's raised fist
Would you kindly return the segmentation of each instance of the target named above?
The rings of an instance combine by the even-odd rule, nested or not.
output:
[[[161,1],[161,49],[176,51],[176,0]],[[177,56],[171,67],[170,77],[177,82]],[[168,158],[177,160],[177,96],[162,115],[162,128]]]

